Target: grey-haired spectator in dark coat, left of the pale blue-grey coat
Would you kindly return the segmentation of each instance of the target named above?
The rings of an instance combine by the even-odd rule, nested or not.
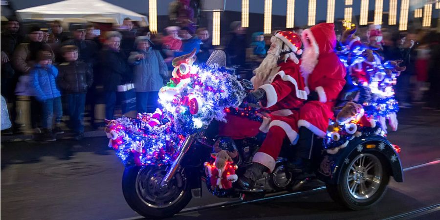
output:
[[[116,90],[131,79],[127,58],[119,50],[121,34],[117,31],[107,33],[105,46],[100,54],[101,77],[106,93],[106,119],[113,119],[116,105]]]

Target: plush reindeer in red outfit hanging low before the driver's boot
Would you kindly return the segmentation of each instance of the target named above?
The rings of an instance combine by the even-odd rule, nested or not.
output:
[[[237,166],[232,165],[233,160],[225,150],[212,153],[211,156],[216,158],[214,165],[207,164],[205,168],[210,177],[211,189],[230,189],[238,178],[235,174]]]

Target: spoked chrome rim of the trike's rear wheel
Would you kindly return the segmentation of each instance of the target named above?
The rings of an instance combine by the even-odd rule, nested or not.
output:
[[[358,200],[371,198],[383,179],[380,160],[373,154],[359,154],[349,168],[346,184],[350,195]]]

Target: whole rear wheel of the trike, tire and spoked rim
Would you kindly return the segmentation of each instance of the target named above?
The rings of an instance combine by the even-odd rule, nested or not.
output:
[[[327,184],[330,197],[352,209],[367,209],[383,198],[389,180],[387,163],[380,154],[357,155],[345,167],[339,184]]]

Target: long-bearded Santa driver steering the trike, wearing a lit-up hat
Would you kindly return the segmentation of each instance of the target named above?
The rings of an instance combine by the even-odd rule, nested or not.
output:
[[[292,31],[282,31],[271,38],[271,46],[252,78],[255,90],[246,97],[249,103],[259,103],[267,113],[260,131],[266,138],[252,160],[252,166],[239,178],[244,189],[255,185],[265,171],[272,172],[283,140],[292,144],[298,140],[297,111],[307,99],[307,89],[299,71],[296,54],[301,54],[301,39]]]

